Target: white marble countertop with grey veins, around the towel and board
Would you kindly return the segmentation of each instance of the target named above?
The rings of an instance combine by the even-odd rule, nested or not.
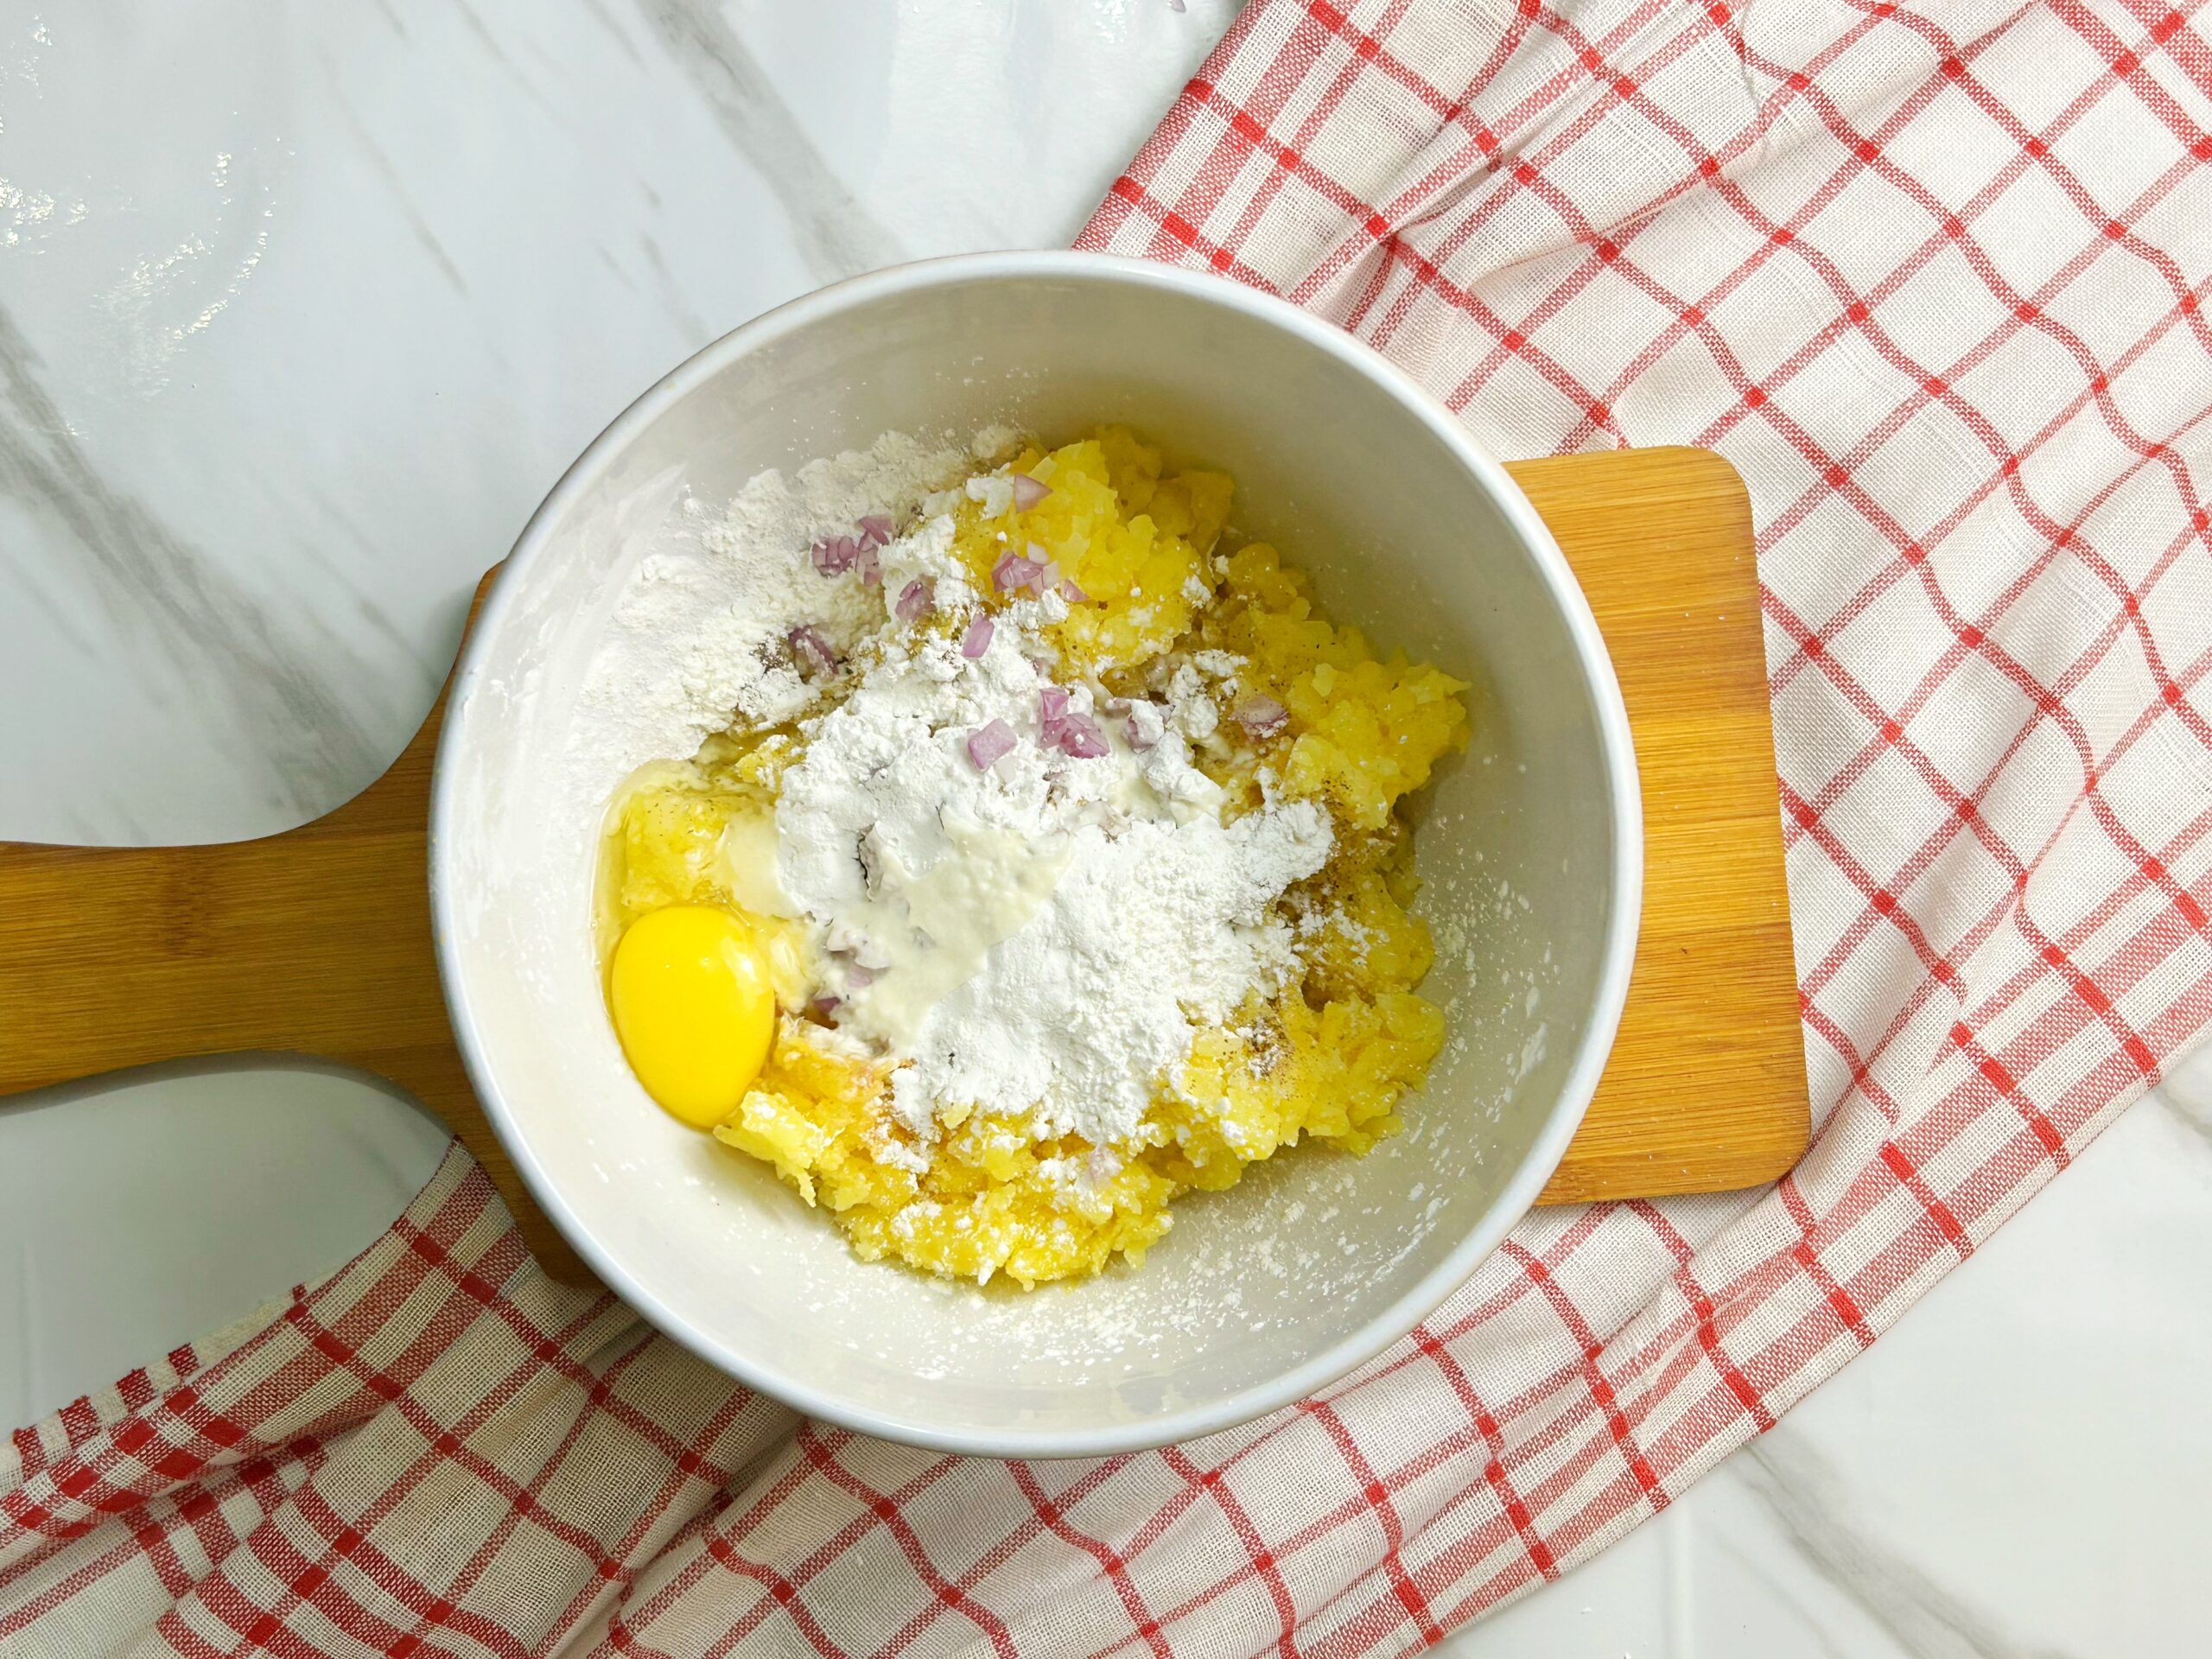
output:
[[[1066,243],[1230,13],[0,0],[0,834],[354,794],[630,396],[834,276]],[[11,1422],[327,1270],[442,1146],[301,1068],[71,1093],[0,1110]],[[93,1159],[137,1225],[53,1203]],[[2199,1062],[1781,1429],[1447,1650],[2212,1650],[2208,1283]]]

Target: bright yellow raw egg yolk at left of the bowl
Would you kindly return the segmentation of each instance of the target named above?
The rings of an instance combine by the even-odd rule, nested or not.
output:
[[[737,1110],[776,1035],[768,953],[739,916],[712,905],[668,905],[630,922],[606,1000],[637,1082],[692,1128]]]

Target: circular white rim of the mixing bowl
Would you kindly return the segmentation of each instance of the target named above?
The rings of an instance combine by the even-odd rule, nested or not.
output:
[[[526,586],[531,568],[546,555],[553,526],[568,509],[619,460],[630,440],[648,429],[664,411],[686,398],[703,380],[721,374],[730,363],[752,352],[814,327],[825,319],[880,301],[885,296],[942,285],[1000,279],[1079,279],[1088,283],[1172,290],[1179,296],[1228,312],[1241,312],[1272,327],[1287,330],[1310,347],[1338,358],[1349,369],[1367,376],[1385,394],[1420,420],[1458,460],[1473,473],[1475,482],[1491,495],[1504,520],[1517,535],[1522,551],[1535,564],[1546,593],[1557,606],[1575,659],[1597,706],[1597,730],[1604,752],[1606,787],[1613,810],[1613,911],[1606,918],[1606,936],[1599,953],[1590,1020],[1577,1044],[1566,1082],[1546,1115],[1542,1130],[1531,1144],[1520,1168],[1491,1201],[1480,1221],[1453,1245],[1453,1250],[1431,1267],[1411,1290],[1402,1292],[1387,1307],[1365,1318],[1349,1336],[1327,1349],[1307,1356],[1298,1365],[1276,1374],[1267,1383],[1228,1394],[1203,1405],[1179,1407],[1133,1422],[1108,1422],[1084,1429],[947,1429],[927,1420],[896,1418],[872,1411],[852,1400],[821,1394],[801,1378],[790,1376],[774,1356],[748,1354],[719,1340],[708,1329],[677,1314],[653,1285],[644,1283],[622,1261],[615,1259],[591,1228],[571,1210],[560,1186],[551,1179],[531,1146],[529,1133],[500,1088],[495,1071],[484,1060],[484,1046],[469,1002],[467,975],[460,967],[458,947],[458,898],[453,894],[453,860],[447,856],[451,825],[456,818],[465,768],[453,759],[467,743],[469,714],[478,688],[484,684],[484,659],[491,641],[500,637],[507,615],[515,606],[515,595]],[[1453,1290],[1482,1265],[1504,1241],[1506,1232],[1533,1208],[1544,1183],[1551,1179],[1566,1144],[1582,1124],[1582,1115],[1597,1091],[1606,1055],[1619,1029],[1621,1009],[1628,1000],[1628,973],[1635,958],[1637,927],[1644,907],[1644,812],[1637,783],[1635,743],[1628,728],[1628,710],[1613,672],[1597,619],[1582,595],[1566,555],[1553,540],[1551,529],[1531,507],[1504,467],[1493,460],[1429,392],[1409,374],[1383,358],[1374,347],[1356,341],[1334,323],[1327,323],[1296,305],[1248,288],[1223,276],[1179,270],[1141,259],[1088,252],[987,252],[949,254],[891,265],[863,276],[818,288],[801,299],[785,301],[770,312],[741,323],[721,338],[701,347],[653,387],[637,396],[615,416],[584,453],[571,462],[560,482],[546,493],[538,511],[531,513],[515,538],[513,551],[500,566],[491,593],[469,628],[447,701],[445,723],[438,734],[436,770],[431,774],[429,816],[429,898],[431,929],[438,953],[438,978],[451,1015],[453,1037],[460,1044],[462,1062],[476,1095],[491,1119],[500,1144],[513,1159],[546,1217],[560,1228],[575,1252],[591,1263],[593,1272],[639,1312],[655,1329],[675,1338],[690,1354],[719,1371],[734,1376],[761,1394],[768,1394],[794,1411],[821,1418],[856,1433],[878,1436],[902,1444],[933,1451],[989,1455],[989,1458],[1102,1458],[1128,1451],[1146,1451],[1164,1444],[1194,1440],[1219,1429],[1250,1422],[1270,1411],[1303,1400],[1347,1371],[1365,1365],[1385,1347],[1396,1343],[1422,1318],[1427,1318]]]

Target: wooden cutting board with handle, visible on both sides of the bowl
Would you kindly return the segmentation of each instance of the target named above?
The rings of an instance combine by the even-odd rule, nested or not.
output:
[[[1805,1150],[1809,1115],[1743,480],[1701,449],[1511,473],[1590,597],[1644,776],[1628,1011],[1544,1201],[1770,1181]],[[389,772],[281,836],[0,843],[0,1095],[195,1055],[347,1062],[451,1124],[540,1261],[588,1281],[515,1177],[447,1026],[425,834],[442,714],[445,695]]]

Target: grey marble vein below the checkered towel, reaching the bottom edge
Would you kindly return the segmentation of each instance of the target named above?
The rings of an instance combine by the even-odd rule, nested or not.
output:
[[[1854,1524],[1845,1482],[1787,1427],[1739,1451],[1732,1471],[1774,1513],[1805,1564],[1913,1659],[2068,1659],[2062,1648],[2020,1641],[1902,1551]]]

